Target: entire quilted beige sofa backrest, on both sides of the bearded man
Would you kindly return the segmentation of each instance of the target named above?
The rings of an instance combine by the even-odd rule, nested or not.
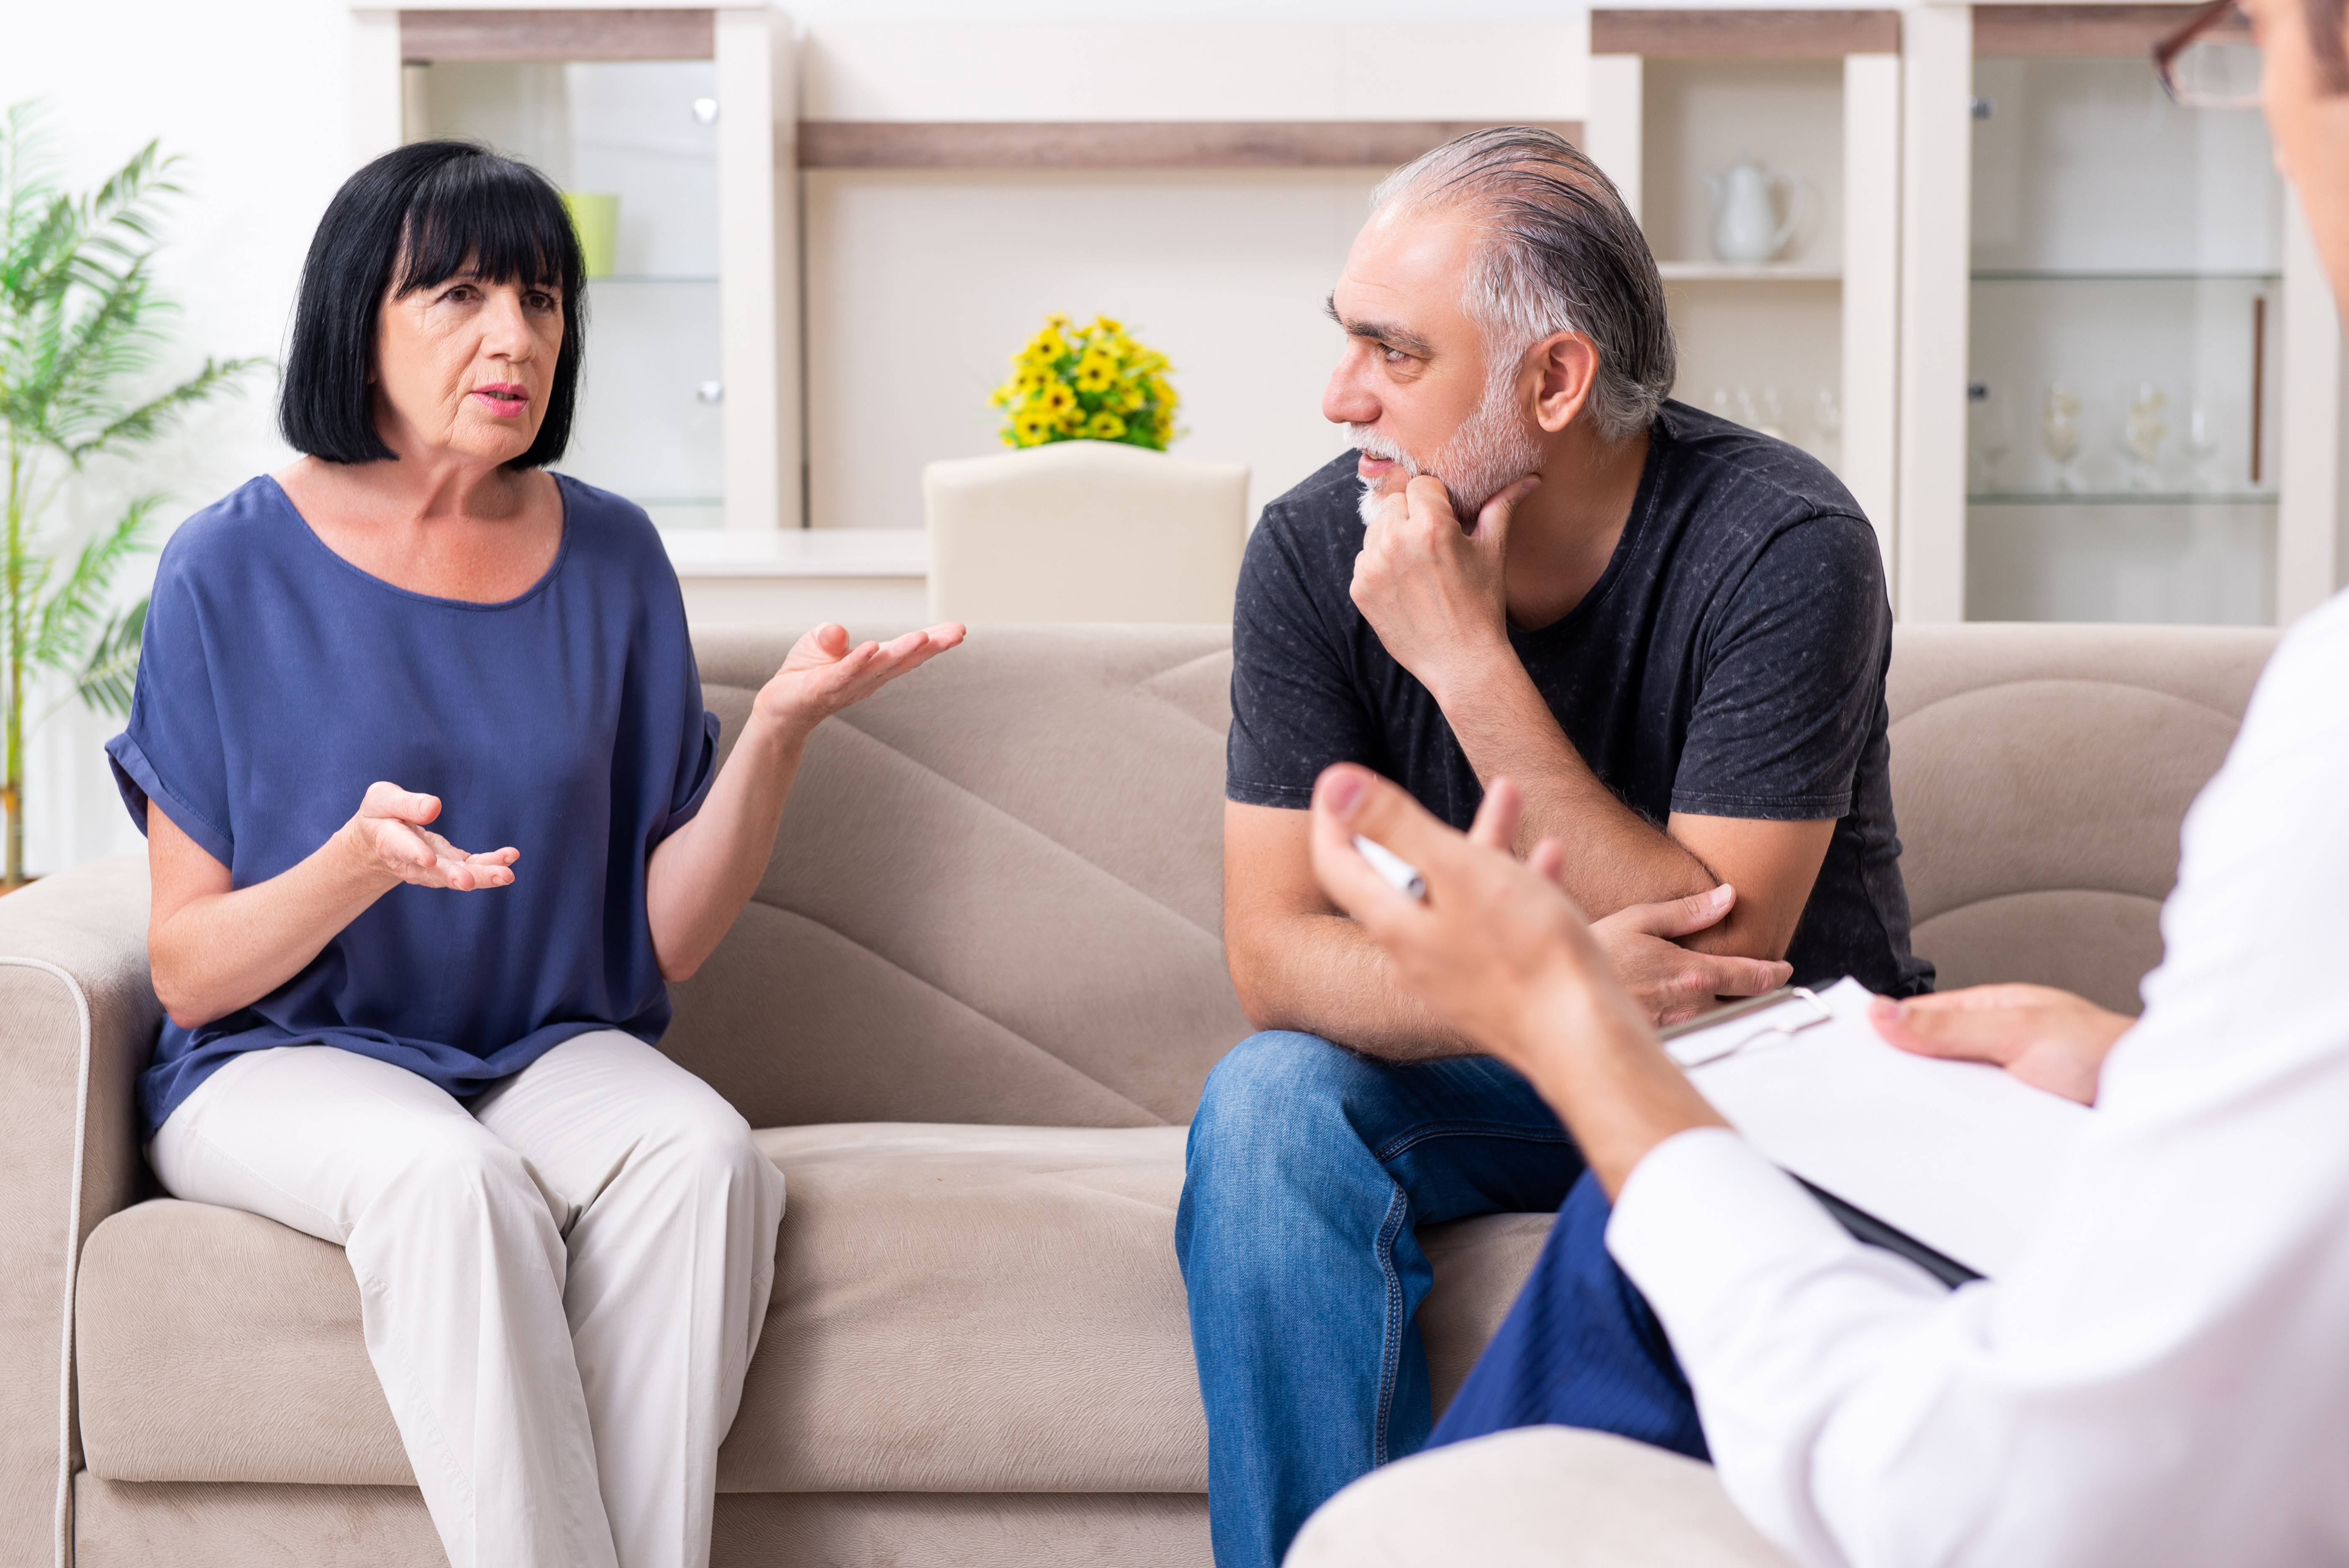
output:
[[[1221,948],[1219,627],[982,627],[822,725],[665,1040],[754,1124],[1186,1122],[1245,1033]],[[702,627],[740,732],[789,634]],[[1900,627],[1893,807],[1943,986],[2135,1012],[2178,822],[2271,631]]]

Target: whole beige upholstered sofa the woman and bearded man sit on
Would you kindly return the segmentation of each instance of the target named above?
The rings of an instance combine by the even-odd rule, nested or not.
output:
[[[702,634],[728,730],[789,641]],[[824,725],[756,901],[679,986],[665,1049],[789,1176],[719,1563],[1207,1563],[1172,1223],[1184,1120],[1247,1033],[1217,937],[1226,641],[982,629]],[[2135,1005],[2178,819],[2269,646],[1900,631],[1896,798],[1943,984]],[[141,1167],[143,922],[139,859],[0,899],[0,1563],[439,1563],[341,1253]],[[1541,1235],[1428,1237],[1440,1397]],[[1574,1495],[1698,1519],[1705,1488]],[[1647,1561],[1755,1561],[1687,1542]]]

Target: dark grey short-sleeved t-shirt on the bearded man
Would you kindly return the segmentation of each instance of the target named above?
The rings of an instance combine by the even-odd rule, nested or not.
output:
[[[1348,594],[1360,493],[1346,453],[1271,502],[1247,542],[1224,793],[1304,807],[1322,768],[1362,763],[1466,829],[1485,789]],[[1508,641],[1590,770],[1649,822],[1837,819],[1788,948],[1797,984],[1933,986],[1910,953],[1893,836],[1884,561],[1823,462],[1665,404],[1607,570],[1562,620]]]

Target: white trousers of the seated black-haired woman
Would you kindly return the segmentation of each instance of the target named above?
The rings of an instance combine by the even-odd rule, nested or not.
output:
[[[303,1045],[233,1059],[148,1148],[174,1197],[338,1242],[451,1568],[702,1568],[775,1279],[782,1174],[634,1035],[460,1103]]]

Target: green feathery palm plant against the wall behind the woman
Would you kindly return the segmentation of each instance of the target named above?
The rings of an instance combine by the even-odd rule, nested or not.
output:
[[[33,728],[26,685],[63,674],[73,697],[129,711],[146,601],[108,610],[110,587],[124,559],[148,547],[162,495],[139,495],[110,526],[87,533],[80,549],[45,528],[49,507],[92,458],[134,455],[176,415],[261,364],[204,359],[164,392],[134,390],[155,369],[160,319],[171,310],[157,298],[148,263],[157,249],[157,204],[179,192],[174,162],[150,141],[96,190],[70,195],[56,183],[33,106],[0,115],[0,439],[7,444],[0,887],[23,883],[23,742]]]

